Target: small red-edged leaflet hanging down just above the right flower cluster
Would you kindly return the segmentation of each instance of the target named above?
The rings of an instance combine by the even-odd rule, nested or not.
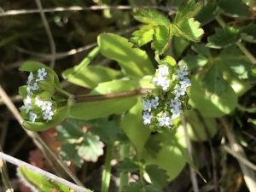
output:
[[[155,50],[154,54],[162,55],[168,48],[171,40],[172,36],[169,32],[169,27],[156,26],[153,35],[153,42],[151,44],[151,47]]]

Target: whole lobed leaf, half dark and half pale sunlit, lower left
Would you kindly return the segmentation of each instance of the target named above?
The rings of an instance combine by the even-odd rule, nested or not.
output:
[[[96,162],[98,156],[103,154],[99,137],[89,131],[83,131],[76,120],[63,121],[56,129],[56,140],[64,142],[60,149],[60,155],[64,160],[74,160],[77,166],[81,166],[82,160]]]

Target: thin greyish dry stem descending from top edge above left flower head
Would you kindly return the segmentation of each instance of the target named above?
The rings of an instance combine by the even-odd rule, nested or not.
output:
[[[35,1],[38,5],[38,9],[40,11],[39,13],[40,13],[41,19],[44,23],[44,29],[45,29],[45,32],[46,32],[46,34],[48,36],[48,39],[49,39],[49,47],[50,47],[50,52],[51,52],[51,61],[50,61],[49,67],[53,68],[53,67],[55,67],[55,55],[56,55],[55,41],[54,41],[54,39],[52,37],[52,34],[50,32],[48,21],[46,20],[46,17],[44,15],[44,11],[43,11],[41,1],[40,0],[35,0]]]

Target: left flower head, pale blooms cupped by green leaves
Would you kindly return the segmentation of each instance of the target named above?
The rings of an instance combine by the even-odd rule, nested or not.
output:
[[[61,123],[69,116],[69,97],[61,89],[57,74],[49,67],[37,61],[27,61],[20,71],[29,72],[27,85],[19,89],[24,98],[20,108],[23,126],[31,131],[44,131]]]

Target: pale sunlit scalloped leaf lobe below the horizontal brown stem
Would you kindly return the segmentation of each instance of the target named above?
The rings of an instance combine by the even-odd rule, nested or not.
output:
[[[100,138],[88,131],[84,134],[84,140],[78,144],[77,148],[79,155],[86,161],[96,162],[98,157],[104,153]]]

